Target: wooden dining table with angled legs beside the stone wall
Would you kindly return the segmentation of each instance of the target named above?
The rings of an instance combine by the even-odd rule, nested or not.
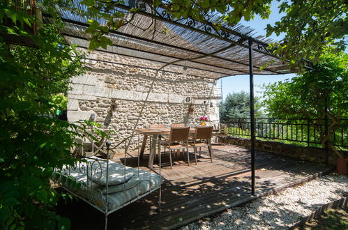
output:
[[[142,140],[142,148],[140,149],[140,155],[139,155],[140,159],[142,159],[144,156],[146,141],[148,137],[152,136],[153,141],[151,142],[150,155],[149,155],[149,168],[152,169],[153,160],[155,159],[155,155],[156,155],[157,142],[160,141],[161,135],[170,134],[170,128],[138,128],[138,129],[135,129],[135,132],[137,132],[139,135],[144,135],[144,139]],[[195,133],[195,132],[196,130],[194,128],[190,128],[190,133]]]

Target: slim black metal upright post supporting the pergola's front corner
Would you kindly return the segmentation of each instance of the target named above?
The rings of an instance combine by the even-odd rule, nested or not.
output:
[[[249,82],[250,82],[250,151],[251,151],[251,193],[255,195],[255,111],[254,111],[254,72],[252,70],[252,39],[249,38]]]

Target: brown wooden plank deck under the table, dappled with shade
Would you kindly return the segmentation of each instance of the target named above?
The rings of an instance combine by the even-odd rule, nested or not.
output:
[[[146,157],[146,155],[145,155]],[[121,155],[114,160],[124,162]],[[146,169],[147,159],[141,164]],[[250,151],[237,146],[213,146],[213,163],[202,153],[195,165],[193,155],[188,167],[186,157],[162,162],[161,212],[158,213],[158,191],[109,215],[109,229],[173,229],[202,217],[218,213],[259,196],[308,181],[326,173],[327,167],[272,153],[256,153],[257,194],[250,194]],[[126,165],[137,167],[137,158],[126,158]],[[148,169],[149,170],[149,169]],[[154,165],[158,172],[158,164]],[[72,229],[102,229],[104,216],[83,201],[59,204],[59,215],[69,217]]]

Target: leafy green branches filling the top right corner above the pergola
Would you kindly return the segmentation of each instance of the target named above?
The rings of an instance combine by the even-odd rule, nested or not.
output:
[[[278,0],[280,1],[280,0]],[[347,1],[285,0],[279,12],[285,16],[274,26],[267,25],[267,35],[285,33],[280,43],[273,44],[275,54],[303,66],[304,59],[317,63],[319,56],[331,49],[345,50],[348,33]]]

